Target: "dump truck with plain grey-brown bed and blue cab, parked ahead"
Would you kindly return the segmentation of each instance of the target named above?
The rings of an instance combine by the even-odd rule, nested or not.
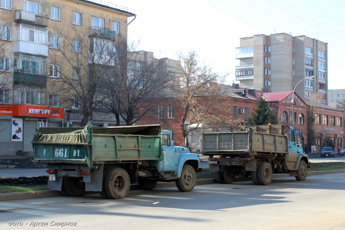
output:
[[[268,185],[273,172],[305,180],[311,163],[301,142],[302,131],[286,124],[247,126],[240,132],[203,133],[202,153],[210,156],[209,169],[218,183],[250,175],[254,184]]]

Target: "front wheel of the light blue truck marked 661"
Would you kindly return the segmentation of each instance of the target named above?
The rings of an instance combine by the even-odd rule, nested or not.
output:
[[[193,167],[185,164],[182,168],[180,178],[176,179],[176,187],[181,192],[190,192],[193,190],[196,181],[196,173]]]

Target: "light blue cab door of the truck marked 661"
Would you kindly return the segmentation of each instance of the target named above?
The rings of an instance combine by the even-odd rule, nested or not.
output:
[[[173,172],[177,168],[177,153],[171,143],[170,134],[162,133],[162,147],[164,153],[163,172]]]

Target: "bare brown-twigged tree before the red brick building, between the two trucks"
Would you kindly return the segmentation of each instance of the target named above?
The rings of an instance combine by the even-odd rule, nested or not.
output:
[[[206,127],[213,131],[239,128],[241,121],[234,119],[233,110],[227,103],[229,88],[222,84],[224,77],[212,72],[208,66],[200,66],[195,51],[177,55],[181,73],[181,88],[178,89],[177,98],[184,108],[181,131],[185,146],[189,147],[187,137],[192,131]],[[187,127],[186,119],[196,122],[194,127]]]

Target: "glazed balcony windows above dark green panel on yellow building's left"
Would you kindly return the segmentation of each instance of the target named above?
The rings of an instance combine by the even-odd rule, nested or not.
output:
[[[47,57],[26,53],[14,53],[14,72],[46,75]]]

